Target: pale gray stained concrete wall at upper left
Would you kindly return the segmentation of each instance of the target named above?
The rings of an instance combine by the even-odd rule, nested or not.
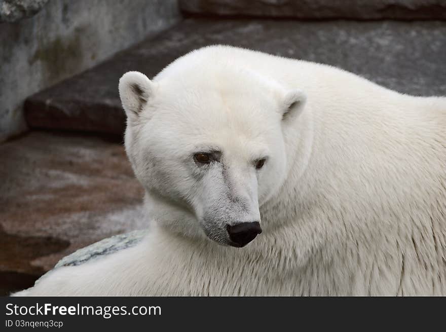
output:
[[[0,141],[26,129],[26,97],[179,18],[176,0],[0,0]]]

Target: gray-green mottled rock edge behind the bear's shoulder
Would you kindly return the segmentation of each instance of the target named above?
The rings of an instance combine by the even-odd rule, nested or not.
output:
[[[55,268],[81,265],[86,262],[97,260],[110,253],[133,247],[139,243],[146,234],[147,231],[133,231],[103,239],[63,257],[63,259],[56,264]]]

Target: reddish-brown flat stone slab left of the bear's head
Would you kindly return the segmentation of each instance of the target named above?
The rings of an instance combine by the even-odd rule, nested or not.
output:
[[[147,226],[119,142],[31,132],[0,145],[0,160],[0,295],[81,247]]]

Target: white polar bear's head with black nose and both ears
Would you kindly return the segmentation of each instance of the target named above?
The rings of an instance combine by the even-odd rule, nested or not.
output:
[[[262,232],[259,205],[285,180],[283,129],[301,112],[302,91],[245,69],[199,67],[153,81],[130,71],[119,92],[151,218],[234,247]]]

